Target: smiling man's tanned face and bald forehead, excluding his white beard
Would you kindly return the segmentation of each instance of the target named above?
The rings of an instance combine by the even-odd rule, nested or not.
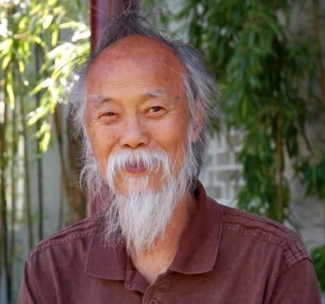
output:
[[[183,67],[165,45],[129,36],[107,47],[86,77],[86,129],[93,154],[106,177],[107,160],[125,150],[162,150],[173,172],[182,166],[187,149],[189,111],[182,86]],[[150,176],[161,187],[161,170],[126,166],[116,186],[127,194],[129,177]]]

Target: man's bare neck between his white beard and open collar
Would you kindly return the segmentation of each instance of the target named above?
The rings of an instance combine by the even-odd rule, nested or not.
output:
[[[131,253],[134,266],[150,284],[158,275],[165,273],[173,262],[182,234],[196,213],[196,207],[196,200],[186,195],[175,208],[165,234],[154,241],[153,248]]]

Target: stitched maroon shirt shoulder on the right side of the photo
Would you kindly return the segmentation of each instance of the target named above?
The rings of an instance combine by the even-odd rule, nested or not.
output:
[[[219,207],[223,232],[233,232],[252,246],[262,244],[265,250],[276,248],[289,268],[302,259],[309,259],[298,234],[284,225],[231,207]]]

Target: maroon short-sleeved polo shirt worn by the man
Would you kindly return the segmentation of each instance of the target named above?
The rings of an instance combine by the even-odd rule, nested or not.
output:
[[[149,285],[93,216],[42,241],[26,259],[20,304],[320,304],[299,237],[196,190],[198,211],[168,271]]]

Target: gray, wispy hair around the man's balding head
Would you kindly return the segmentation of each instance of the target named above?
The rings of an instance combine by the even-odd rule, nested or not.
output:
[[[200,129],[198,140],[189,145],[189,154],[193,155],[192,179],[198,177],[203,166],[203,158],[207,148],[207,138],[209,129],[212,127],[212,119],[218,113],[219,90],[214,81],[214,77],[207,70],[207,65],[203,56],[189,45],[175,37],[167,39],[161,33],[155,32],[147,19],[139,17],[136,13],[120,13],[118,17],[111,19],[102,32],[101,38],[95,50],[89,54],[86,63],[74,74],[74,84],[70,91],[70,101],[72,105],[72,118],[74,131],[84,136],[84,169],[83,175],[88,175],[93,165],[91,148],[88,134],[85,128],[84,112],[86,109],[85,79],[90,65],[95,58],[114,42],[129,35],[141,35],[157,40],[171,48],[186,68],[182,75],[184,91],[187,96],[189,106],[190,127],[189,132]],[[89,169],[89,170],[88,170]],[[87,179],[89,177],[84,176]],[[94,177],[92,177],[94,178]],[[100,179],[97,177],[97,179]],[[89,179],[88,179],[89,180]]]

